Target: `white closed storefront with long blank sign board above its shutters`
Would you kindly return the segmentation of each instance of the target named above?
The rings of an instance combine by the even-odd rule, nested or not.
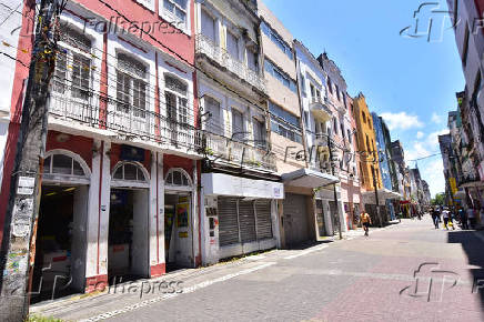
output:
[[[283,199],[282,183],[203,173],[202,187],[204,264],[278,245],[278,204],[274,201]]]

